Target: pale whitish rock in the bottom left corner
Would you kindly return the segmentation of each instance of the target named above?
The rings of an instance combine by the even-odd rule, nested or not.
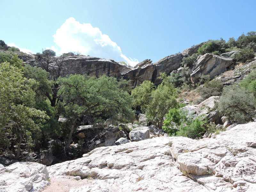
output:
[[[49,184],[48,179],[46,165],[18,162],[0,169],[0,191],[42,191]]]

